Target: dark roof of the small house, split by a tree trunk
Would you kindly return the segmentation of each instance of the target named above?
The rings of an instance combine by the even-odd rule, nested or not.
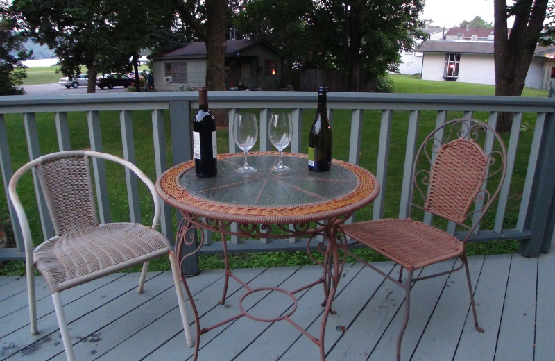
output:
[[[227,40],[225,42],[225,56],[238,56],[241,51],[246,51],[258,44],[263,44],[266,47],[278,52],[271,44],[265,40]],[[205,42],[190,42],[185,47],[169,51],[167,53],[155,54],[149,58],[206,58],[206,44]]]

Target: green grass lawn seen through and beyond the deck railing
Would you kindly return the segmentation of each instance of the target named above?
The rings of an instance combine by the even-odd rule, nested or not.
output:
[[[48,83],[48,76],[45,69],[51,69],[53,74],[56,67],[38,68],[29,72],[28,80],[33,77],[42,78]],[[32,74],[32,75],[31,75]],[[57,74],[54,79],[60,77]],[[422,81],[412,76],[391,76],[395,84],[395,92],[398,93],[425,93],[425,94],[475,94],[475,95],[493,95],[494,87],[490,85],[475,85],[470,83],[443,82],[443,81]],[[545,90],[525,89],[523,96],[547,96]],[[303,112],[302,140],[301,149],[307,148],[308,131],[312,119],[314,119],[315,110],[305,110]],[[391,149],[388,158],[388,177],[386,181],[387,187],[384,188],[386,202],[384,209],[385,217],[396,217],[400,203],[400,187],[402,181],[402,169],[404,165],[404,151],[407,137],[408,124],[407,111],[396,111],[393,113],[393,125],[391,139]],[[450,112],[450,118],[461,117],[461,112]],[[168,117],[168,114],[166,114]],[[334,111],[333,131],[334,131],[334,158],[348,160],[348,145],[350,142],[350,110]],[[476,112],[477,119],[486,120],[487,112]],[[86,113],[69,112],[68,113],[69,129],[71,132],[71,146],[73,149],[83,149],[89,147],[89,135],[87,131]],[[435,124],[436,112],[422,111],[420,112],[420,126],[422,127],[422,136],[431,131]],[[524,128],[533,129],[536,115],[524,114]],[[364,112],[364,128],[362,139],[364,146],[361,151],[361,165],[370,171],[376,170],[377,145],[379,142],[379,125],[381,121],[381,112],[379,110]],[[17,169],[26,161],[28,152],[26,149],[25,131],[22,122],[22,115],[6,115],[6,127],[8,128],[8,142],[10,143],[10,155],[12,156],[12,167]],[[153,156],[153,140],[151,128],[151,114],[149,111],[133,111],[133,126],[135,132],[135,149],[137,155],[137,165],[145,171],[152,179],[155,178],[154,156]],[[169,119],[166,121],[167,139],[170,137]],[[53,115],[37,113],[37,127],[40,134],[40,147],[42,153],[49,153],[57,150],[58,141],[56,138],[56,126]],[[101,112],[101,129],[103,133],[104,151],[114,153],[121,156],[121,135],[119,129],[119,113],[118,112]],[[509,205],[506,210],[505,226],[513,228],[518,215],[518,206],[520,205],[520,194],[522,185],[524,184],[524,176],[527,169],[528,154],[531,145],[532,131],[523,131],[520,134],[519,151],[515,163],[515,171],[511,181],[511,196]],[[219,153],[227,153],[228,132],[219,131],[218,133]],[[254,149],[257,150],[257,149]],[[171,159],[171,147],[167,148],[168,159]],[[112,206],[112,217],[114,221],[125,220],[119,219],[127,214],[126,208],[126,189],[124,175],[118,171],[108,169],[108,184],[110,187],[110,201]],[[113,185],[113,186],[110,186]],[[22,201],[33,202],[35,194],[31,177],[27,180],[25,198]],[[123,201],[114,201],[122,199]],[[147,194],[143,194],[142,199],[148,200]],[[36,212],[30,212],[30,222],[33,226],[33,235],[35,239],[40,240],[40,221]],[[143,213],[144,219],[148,219],[151,215],[150,205],[145,205]],[[372,212],[372,206],[368,206],[357,212],[357,220],[368,219]],[[123,216],[122,216],[123,215]],[[8,210],[6,209],[6,198],[3,192],[0,194],[0,221],[9,230]],[[486,226],[490,220],[485,219]],[[469,244],[468,251],[470,254],[492,254],[492,253],[514,253],[517,249],[517,242],[486,242],[481,244]],[[368,260],[381,260],[382,258],[367,250],[361,250],[364,257]],[[305,252],[295,253],[244,253],[233,255],[230,260],[232,268],[235,267],[271,267],[286,265],[305,265],[311,264],[311,260],[307,258]],[[151,269],[167,270],[169,263],[166,259],[160,259],[158,262],[151,264]],[[202,269],[222,268],[223,260],[221,255],[201,255],[200,267]],[[10,262],[8,267],[3,270],[2,274],[22,274],[24,267],[22,262]],[[138,269],[134,269],[137,271]]]

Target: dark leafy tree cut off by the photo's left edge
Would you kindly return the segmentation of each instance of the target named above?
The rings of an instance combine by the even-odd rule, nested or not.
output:
[[[0,0],[0,95],[24,93],[19,86],[26,78],[22,62],[32,55],[23,49],[24,36],[14,31],[14,28],[8,1]]]

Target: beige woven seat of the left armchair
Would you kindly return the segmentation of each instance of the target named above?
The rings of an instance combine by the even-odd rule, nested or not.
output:
[[[171,250],[167,237],[151,227],[110,223],[53,237],[35,249],[34,257],[54,293],[168,255]]]

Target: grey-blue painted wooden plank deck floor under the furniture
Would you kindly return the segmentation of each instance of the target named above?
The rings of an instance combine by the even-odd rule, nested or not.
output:
[[[379,267],[398,271],[391,262]],[[485,332],[473,326],[463,272],[425,280],[413,287],[402,359],[555,360],[555,251],[539,258],[472,257],[470,269]],[[310,266],[238,269],[236,274],[251,287],[294,289],[320,272]],[[327,325],[327,360],[395,360],[404,292],[359,264],[346,265],[343,273],[334,301],[337,314]],[[201,326],[237,313],[243,293],[233,281],[226,305],[216,303],[222,277],[222,271],[203,271],[189,280],[203,315]],[[114,274],[62,293],[78,360],[191,359],[171,274],[149,274],[143,294],[135,292],[137,279],[138,274]],[[65,360],[53,303],[42,278],[37,283],[40,335],[31,336],[24,278],[0,278],[0,360]],[[302,293],[292,317],[316,334],[321,297],[321,285]],[[244,305],[249,302],[250,297]],[[287,296],[273,292],[253,302],[250,312],[271,317],[290,304]],[[316,345],[284,321],[264,324],[243,317],[203,335],[200,346],[198,360],[318,360]]]

